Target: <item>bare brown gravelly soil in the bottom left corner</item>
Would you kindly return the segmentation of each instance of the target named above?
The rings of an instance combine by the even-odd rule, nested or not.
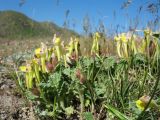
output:
[[[0,120],[36,120],[32,105],[16,86],[16,80],[0,60]]]

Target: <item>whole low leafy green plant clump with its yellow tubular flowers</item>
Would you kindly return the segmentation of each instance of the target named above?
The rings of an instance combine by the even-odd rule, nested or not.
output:
[[[115,37],[117,56],[105,56],[95,33],[91,54],[81,55],[77,38],[67,45],[56,35],[20,66],[18,83],[41,119],[158,119],[160,115],[159,33]]]

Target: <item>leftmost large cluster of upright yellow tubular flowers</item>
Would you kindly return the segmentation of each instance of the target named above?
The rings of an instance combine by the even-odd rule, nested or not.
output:
[[[34,52],[34,58],[28,61],[26,66],[20,66],[20,70],[25,72],[26,87],[30,89],[34,85],[38,86],[41,81],[40,72],[53,72],[60,61],[63,61],[66,67],[75,63],[80,53],[80,44],[77,38],[71,38],[67,46],[64,46],[64,43],[56,35],[53,38],[53,47],[47,48],[44,43],[41,43],[41,47]]]

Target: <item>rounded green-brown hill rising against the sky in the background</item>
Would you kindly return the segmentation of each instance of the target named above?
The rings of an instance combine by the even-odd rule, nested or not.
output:
[[[45,38],[52,37],[54,33],[63,37],[78,36],[76,32],[51,22],[37,22],[16,11],[0,11],[1,39]]]

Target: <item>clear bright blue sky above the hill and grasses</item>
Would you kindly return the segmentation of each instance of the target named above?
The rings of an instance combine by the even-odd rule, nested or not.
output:
[[[147,26],[147,21],[153,19],[153,16],[143,10],[138,14],[138,8],[146,0],[132,0],[132,4],[121,9],[126,0],[25,0],[22,6],[19,3],[22,0],[0,0],[0,10],[15,10],[24,13],[36,21],[50,21],[59,26],[63,26],[64,21],[69,21],[68,27],[83,33],[83,19],[89,17],[91,30],[96,31],[99,21],[101,21],[110,32],[119,25],[121,30],[126,30],[130,21],[139,19],[139,29]],[[69,11],[66,19],[65,13]]]

